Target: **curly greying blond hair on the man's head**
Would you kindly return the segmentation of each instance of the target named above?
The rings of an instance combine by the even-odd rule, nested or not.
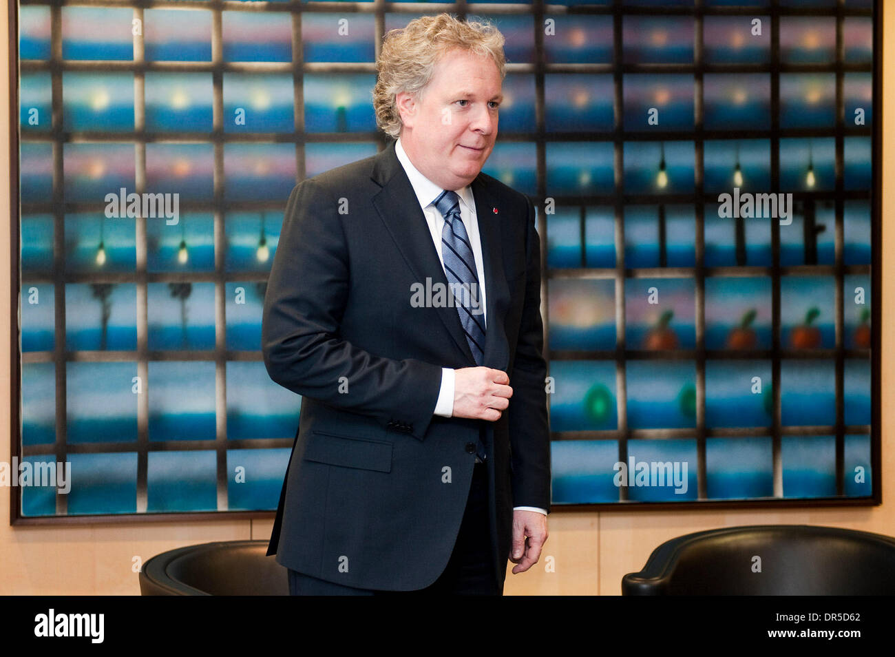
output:
[[[419,98],[431,81],[439,58],[454,48],[490,55],[503,80],[507,75],[503,47],[503,34],[490,22],[460,21],[449,13],[421,16],[403,29],[389,30],[376,62],[378,79],[372,92],[376,124],[397,139],[404,124],[396,95],[406,91]]]

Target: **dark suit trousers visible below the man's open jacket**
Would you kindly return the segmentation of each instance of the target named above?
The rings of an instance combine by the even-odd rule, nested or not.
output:
[[[390,593],[434,593],[463,595],[503,595],[491,563],[488,518],[488,465],[473,467],[473,483],[463,522],[447,567],[433,584],[416,591],[377,591],[336,584],[289,569],[291,595],[379,595]]]

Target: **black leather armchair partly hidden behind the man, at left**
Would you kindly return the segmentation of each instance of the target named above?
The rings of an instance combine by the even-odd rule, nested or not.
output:
[[[140,572],[141,595],[288,595],[286,568],[268,540],[224,541],[168,550]]]

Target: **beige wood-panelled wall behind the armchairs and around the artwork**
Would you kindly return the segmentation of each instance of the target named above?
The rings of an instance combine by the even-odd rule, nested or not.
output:
[[[895,38],[895,12],[884,17],[885,33]],[[7,11],[0,13],[0,185],[9,180],[10,121],[8,81]],[[891,49],[883,52],[884,88],[891,89]],[[885,94],[884,94],[885,96]],[[883,99],[883,115],[895,111],[895,95]],[[879,120],[877,118],[877,120]],[[882,179],[883,240],[895,239],[891,208],[895,192],[893,136],[883,130]],[[0,192],[0,308],[10,307],[10,207],[8,194]],[[883,251],[882,278],[893,280],[895,256]],[[882,325],[891,328],[895,312],[895,288],[883,288]],[[4,315],[5,316],[5,315]],[[10,327],[0,321],[0,404],[10,401]],[[891,404],[895,385],[895,334],[882,333],[882,472],[883,482],[895,474],[895,407]],[[0,459],[10,454],[9,415],[0,417]],[[203,523],[166,522],[124,525],[96,524],[70,526],[9,525],[8,488],[0,488],[0,593],[2,594],[137,594],[134,557],[149,559],[158,552],[192,543],[246,538],[268,538],[272,521],[221,520]],[[639,570],[660,542],[683,533],[730,525],[753,524],[836,525],[869,532],[895,534],[895,502],[874,508],[817,508],[811,510],[738,510],[596,513],[558,511],[550,515],[550,540],[544,554],[553,558],[555,572],[547,573],[544,559],[528,573],[507,574],[507,594],[593,594],[617,595],[621,577]]]

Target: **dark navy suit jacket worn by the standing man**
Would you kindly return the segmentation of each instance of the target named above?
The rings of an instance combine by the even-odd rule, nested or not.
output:
[[[441,368],[475,366],[455,306],[414,307],[447,278],[395,144],[295,186],[264,300],[272,380],[303,396],[268,554],[339,584],[413,590],[454,547],[484,428],[502,584],[512,508],[550,509],[541,248],[534,208],[472,183],[487,303],[484,365],[513,397],[498,422],[433,414]],[[495,212],[497,209],[497,212]]]

